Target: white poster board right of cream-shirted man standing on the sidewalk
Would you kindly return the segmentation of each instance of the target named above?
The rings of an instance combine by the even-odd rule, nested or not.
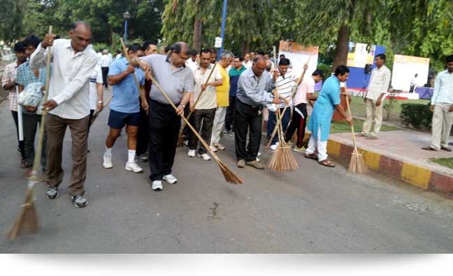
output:
[[[410,79],[418,74],[417,86],[424,86],[428,82],[429,59],[419,56],[403,56],[396,54],[391,73],[391,86],[401,91],[410,90]]]

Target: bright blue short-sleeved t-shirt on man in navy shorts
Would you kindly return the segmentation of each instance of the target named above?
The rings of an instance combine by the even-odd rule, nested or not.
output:
[[[119,75],[124,72],[129,66],[127,59],[117,59],[113,61],[108,70],[109,76]],[[135,75],[138,84],[145,85],[145,72],[141,68],[136,68]],[[127,114],[140,112],[140,91],[134,80],[134,75],[129,74],[124,77],[122,81],[113,86],[112,102],[110,102],[110,109],[115,112],[122,112]]]

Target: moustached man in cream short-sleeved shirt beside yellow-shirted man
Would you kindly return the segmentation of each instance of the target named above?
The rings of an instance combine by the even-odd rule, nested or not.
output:
[[[205,141],[210,141],[213,132],[213,123],[215,118],[215,109],[217,109],[217,91],[216,86],[223,84],[222,75],[218,68],[215,68],[213,74],[210,76],[208,84],[205,85],[206,79],[213,70],[213,65],[210,64],[211,52],[210,49],[201,50],[200,65],[194,70],[194,93],[190,98],[190,109],[194,111],[192,118],[194,120],[194,128],[199,130],[201,128],[201,137]],[[196,98],[200,96],[199,102],[196,103]],[[202,126],[203,125],[203,126]],[[196,148],[198,147],[199,139],[190,132],[189,135],[189,157],[195,157]],[[200,146],[198,156],[203,160],[210,160],[206,148]]]

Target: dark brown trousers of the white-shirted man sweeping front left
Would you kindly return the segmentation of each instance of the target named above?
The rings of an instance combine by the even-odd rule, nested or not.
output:
[[[52,114],[45,116],[45,132],[48,135],[45,181],[50,187],[58,187],[63,181],[63,139],[66,128],[69,126],[73,161],[69,193],[73,196],[83,195],[85,192],[83,185],[87,178],[88,121],[89,116],[76,120]]]

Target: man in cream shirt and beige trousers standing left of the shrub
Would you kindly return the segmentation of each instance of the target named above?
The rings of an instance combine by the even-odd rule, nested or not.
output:
[[[389,90],[391,72],[385,63],[385,54],[378,54],[375,58],[376,67],[371,71],[370,85],[364,101],[366,107],[366,120],[362,132],[357,136],[366,139],[377,139],[382,124],[382,107],[384,96]],[[371,124],[375,121],[374,131],[370,132]]]

